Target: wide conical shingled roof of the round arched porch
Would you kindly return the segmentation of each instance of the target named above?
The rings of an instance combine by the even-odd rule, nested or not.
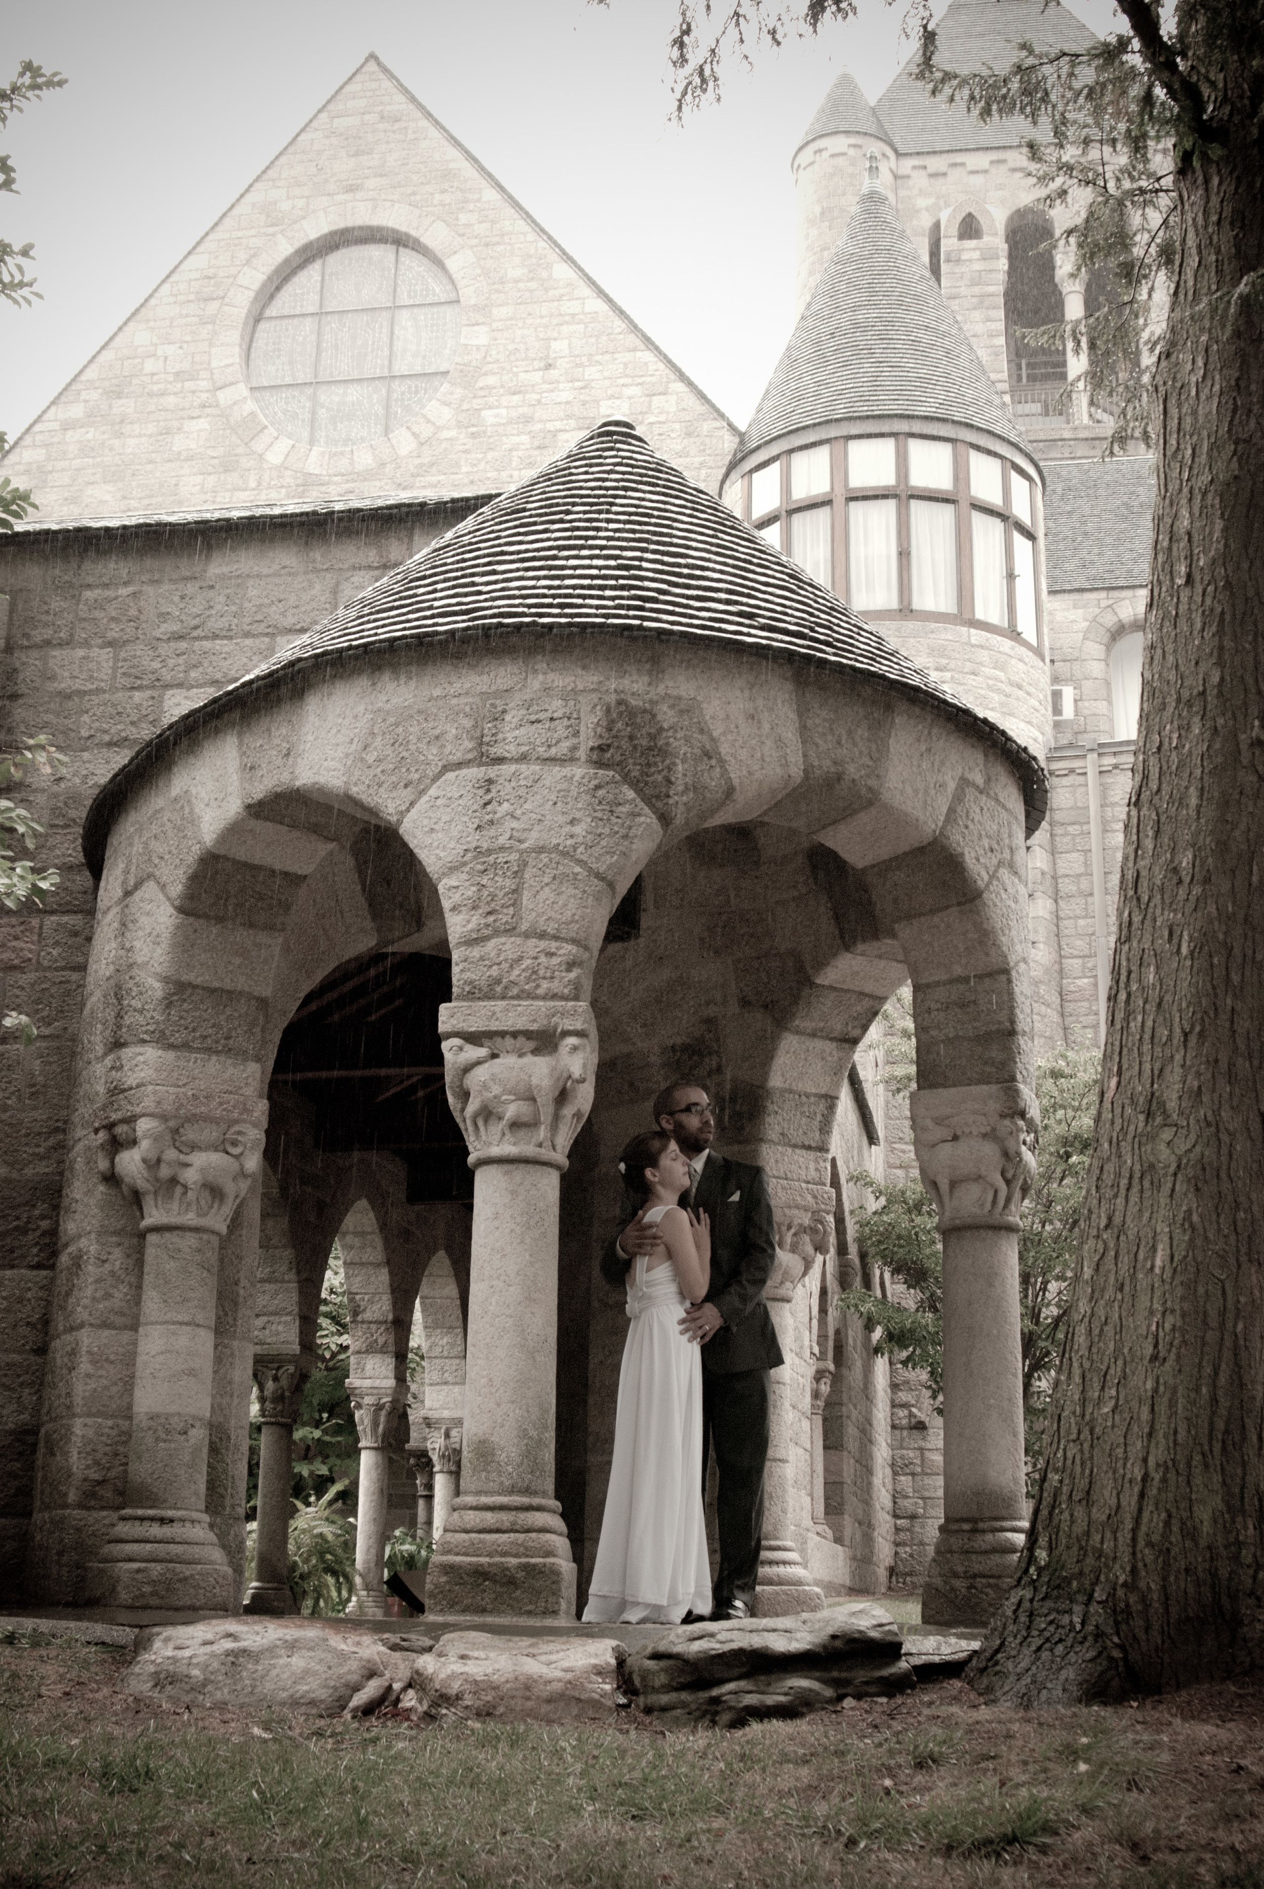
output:
[[[89,869],[100,875],[110,825],[132,788],[202,727],[293,695],[314,669],[514,631],[707,640],[850,671],[999,748],[1022,782],[1032,829],[1045,814],[1035,756],[659,459],[631,421],[608,419],[280,655],[168,722],[89,807]]]

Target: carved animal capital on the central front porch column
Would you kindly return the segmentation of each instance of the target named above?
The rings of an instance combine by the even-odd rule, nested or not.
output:
[[[586,1003],[444,1003],[448,1105],[470,1167],[542,1162],[565,1169],[593,1105],[597,1026]]]

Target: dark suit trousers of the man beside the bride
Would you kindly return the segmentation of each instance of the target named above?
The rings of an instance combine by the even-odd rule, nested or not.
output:
[[[703,1494],[714,1451],[720,1487],[720,1572],[712,1606],[744,1600],[754,1611],[763,1545],[763,1468],[769,1453],[769,1371],[703,1368]]]

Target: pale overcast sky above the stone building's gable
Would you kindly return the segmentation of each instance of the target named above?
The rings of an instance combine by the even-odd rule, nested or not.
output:
[[[716,9],[718,11],[718,9]],[[935,6],[943,11],[943,0]],[[1111,0],[1073,0],[1094,30]],[[11,119],[43,302],[0,304],[13,440],[368,51],[614,300],[744,423],[794,323],[790,159],[843,66],[873,100],[913,47],[903,0],[729,60],[720,106],[671,123],[675,0],[40,0],[0,66],[60,70]]]

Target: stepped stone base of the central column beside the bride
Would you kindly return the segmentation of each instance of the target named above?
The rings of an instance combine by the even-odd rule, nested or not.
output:
[[[574,1562],[561,1504],[457,1496],[425,1577],[427,1613],[574,1619]]]

